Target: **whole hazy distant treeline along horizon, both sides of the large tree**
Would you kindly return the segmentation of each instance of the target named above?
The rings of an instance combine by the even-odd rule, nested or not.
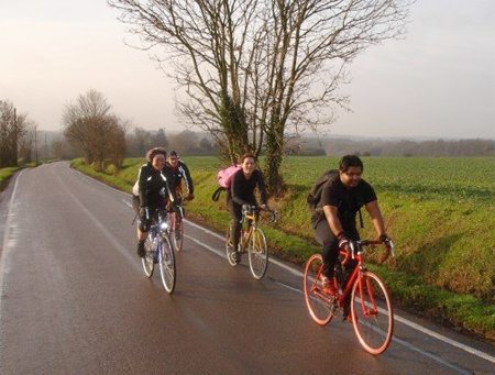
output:
[[[38,154],[44,158],[74,158],[80,154],[64,140],[61,132],[38,133]],[[209,134],[185,130],[134,128],[125,134],[125,157],[144,157],[147,150],[163,146],[183,155],[217,155],[218,147]],[[359,154],[370,156],[495,156],[494,140],[413,141],[348,137],[297,137],[286,142],[286,155],[320,156]]]

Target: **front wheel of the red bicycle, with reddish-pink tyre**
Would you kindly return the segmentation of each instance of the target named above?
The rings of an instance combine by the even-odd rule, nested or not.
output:
[[[377,355],[387,349],[394,331],[391,297],[375,274],[365,272],[359,277],[351,295],[352,324],[364,350]]]

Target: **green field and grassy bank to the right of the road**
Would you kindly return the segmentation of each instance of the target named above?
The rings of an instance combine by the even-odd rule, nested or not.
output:
[[[224,195],[211,201],[220,161],[184,157],[191,169],[196,199],[190,217],[223,231],[229,214]],[[130,191],[143,159],[128,159],[117,176],[101,175]],[[383,275],[396,302],[495,340],[495,158],[363,157],[364,178],[378,195],[397,252]],[[262,161],[263,163],[263,161]],[[305,199],[311,185],[336,157],[287,157],[287,192],[271,206],[280,220],[267,228],[271,249],[302,264],[319,251]],[[373,236],[363,212],[362,236]],[[267,224],[265,223],[265,227]],[[373,263],[377,260],[370,256]]]

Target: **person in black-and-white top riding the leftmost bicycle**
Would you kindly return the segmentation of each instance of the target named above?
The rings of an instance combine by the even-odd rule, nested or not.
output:
[[[177,201],[174,175],[166,167],[167,152],[155,147],[146,153],[147,163],[143,164],[138,174],[138,181],[132,188],[133,207],[139,211],[138,255],[145,255],[144,241],[150,230],[151,217],[157,209],[165,209],[170,202],[175,207]]]

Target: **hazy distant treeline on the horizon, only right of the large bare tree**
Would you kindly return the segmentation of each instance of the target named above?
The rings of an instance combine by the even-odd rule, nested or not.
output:
[[[330,140],[301,139],[292,142],[287,153],[293,155],[344,155],[369,156],[495,156],[494,140]]]

